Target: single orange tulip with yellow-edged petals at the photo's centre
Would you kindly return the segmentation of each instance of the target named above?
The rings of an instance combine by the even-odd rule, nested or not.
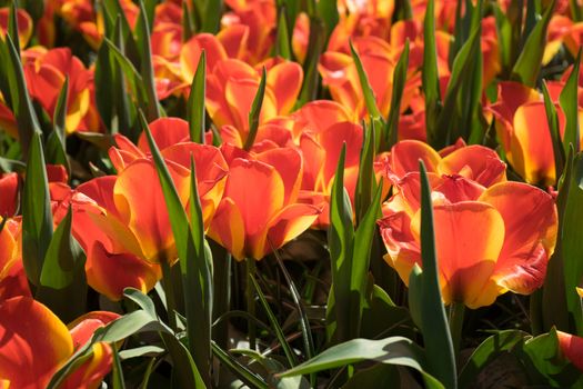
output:
[[[209,237],[237,260],[262,259],[306,230],[320,210],[298,203],[301,154],[291,148],[248,153],[225,146],[229,178]]]

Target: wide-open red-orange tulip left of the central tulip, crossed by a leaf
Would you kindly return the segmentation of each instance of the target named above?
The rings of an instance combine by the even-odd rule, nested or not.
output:
[[[168,164],[185,205],[190,173],[177,163]],[[144,191],[145,187],[149,190]],[[125,287],[148,292],[161,277],[159,263],[177,260],[153,162],[137,160],[118,177],[97,178],[78,190],[100,207],[79,210],[73,216],[73,233],[87,253],[88,283],[112,300],[121,299]]]

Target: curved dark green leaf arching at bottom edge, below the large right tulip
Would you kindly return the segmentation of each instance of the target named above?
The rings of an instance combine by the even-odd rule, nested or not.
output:
[[[511,352],[516,345],[523,342],[527,337],[530,337],[529,333],[520,330],[504,330],[484,340],[472,352],[472,356],[460,371],[459,387],[461,389],[471,388],[473,380],[483,368],[501,355]]]

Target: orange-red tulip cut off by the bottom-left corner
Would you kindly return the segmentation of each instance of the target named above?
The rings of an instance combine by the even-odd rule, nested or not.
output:
[[[97,327],[115,320],[110,312],[89,313],[71,332],[42,303],[29,297],[0,301],[0,385],[46,388],[52,375],[82,346]],[[92,329],[91,332],[82,330]],[[99,342],[92,355],[67,378],[63,388],[98,388],[111,370],[112,351]]]

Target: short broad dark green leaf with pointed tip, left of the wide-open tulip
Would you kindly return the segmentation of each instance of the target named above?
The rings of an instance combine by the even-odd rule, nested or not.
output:
[[[63,322],[74,320],[87,310],[86,255],[71,236],[71,223],[69,208],[47,250],[36,296]]]

